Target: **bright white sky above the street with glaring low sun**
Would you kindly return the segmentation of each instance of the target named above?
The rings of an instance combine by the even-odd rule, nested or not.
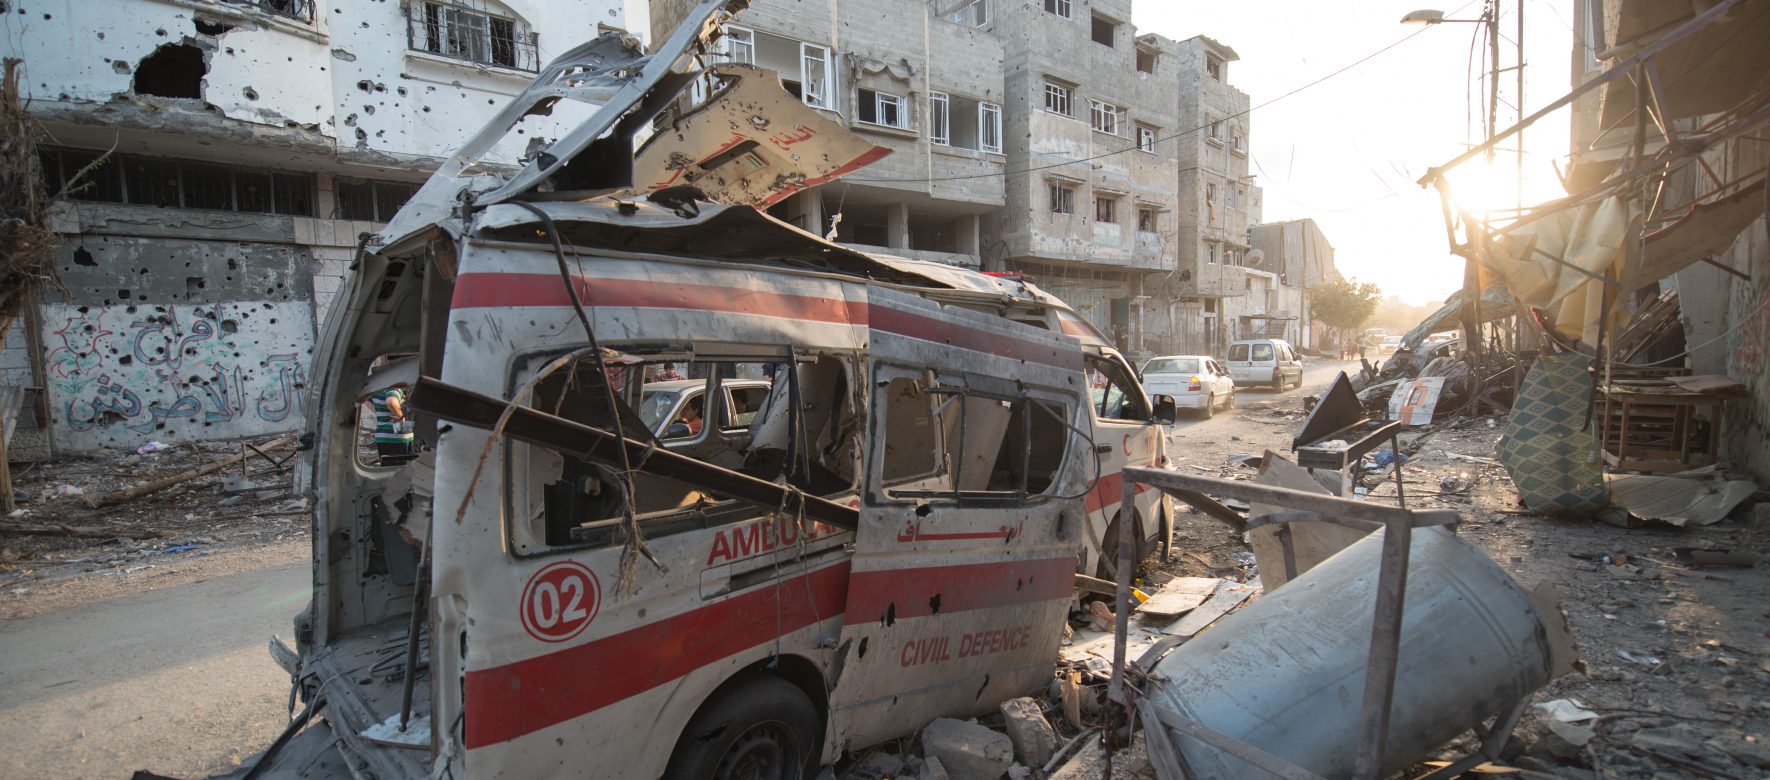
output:
[[[1503,65],[1515,62],[1519,0],[1501,0]],[[1462,258],[1450,255],[1437,193],[1414,184],[1427,168],[1483,136],[1485,27],[1400,25],[1416,9],[1474,19],[1480,0],[1241,0],[1135,5],[1138,32],[1177,41],[1209,35],[1235,50],[1232,85],[1253,108],[1250,143],[1255,182],[1266,189],[1266,221],[1312,218],[1335,246],[1340,272],[1375,281],[1411,304],[1441,301],[1462,285]],[[1566,94],[1574,41],[1572,0],[1524,0],[1526,115]],[[1423,32],[1421,32],[1423,30]],[[1290,97],[1285,92],[1338,71],[1411,34],[1418,37]],[[1471,57],[1471,41],[1481,34]],[[1501,74],[1499,127],[1515,119],[1517,74]],[[1262,103],[1274,101],[1260,108]],[[1506,149],[1517,149],[1506,141]],[[1551,159],[1565,166],[1568,113],[1526,131],[1526,198],[1556,198]],[[1513,205],[1515,157],[1501,154],[1499,203]],[[1480,161],[1464,168],[1478,175]]]

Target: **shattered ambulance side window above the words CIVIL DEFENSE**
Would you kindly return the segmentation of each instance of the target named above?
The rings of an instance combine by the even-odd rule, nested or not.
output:
[[[1057,481],[1069,440],[1058,396],[1025,386],[984,391],[968,387],[968,377],[885,366],[878,373],[897,373],[873,400],[885,432],[878,456],[885,497],[1025,499]]]

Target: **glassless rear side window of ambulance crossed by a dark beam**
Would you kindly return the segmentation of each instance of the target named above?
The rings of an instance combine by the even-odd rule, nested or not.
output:
[[[552,361],[533,357],[519,386]],[[618,356],[596,375],[582,359],[536,384],[531,405],[612,432],[611,393],[628,439],[657,442],[761,479],[781,479],[816,495],[853,492],[857,472],[848,371],[837,359],[712,361],[678,356]],[[618,545],[627,481],[612,463],[588,462],[547,447],[510,447],[512,539],[519,552]],[[634,511],[646,536],[756,518],[754,506],[704,486],[635,469]]]

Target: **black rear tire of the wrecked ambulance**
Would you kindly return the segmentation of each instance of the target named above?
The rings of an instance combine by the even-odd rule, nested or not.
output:
[[[781,677],[727,688],[689,720],[666,780],[800,780],[814,775],[818,707]]]

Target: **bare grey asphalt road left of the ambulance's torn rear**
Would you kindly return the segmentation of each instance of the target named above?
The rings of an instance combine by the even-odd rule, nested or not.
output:
[[[271,661],[306,603],[306,561],[124,593],[0,624],[0,776],[193,776],[287,723]]]

